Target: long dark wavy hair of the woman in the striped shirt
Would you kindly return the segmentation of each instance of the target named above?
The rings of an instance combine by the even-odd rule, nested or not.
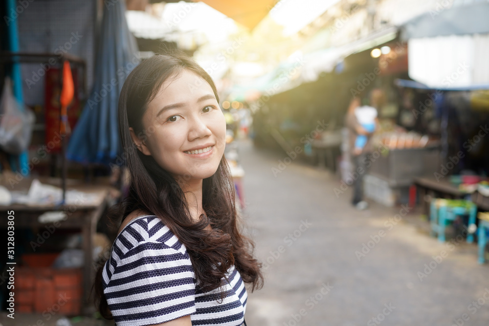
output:
[[[202,181],[202,214],[195,222],[184,192],[168,171],[153,156],[144,155],[133,143],[129,128],[146,136],[142,117],[161,85],[177,78],[184,70],[199,75],[211,87],[219,102],[216,86],[209,74],[181,52],[154,55],[145,59],[128,75],[119,97],[119,133],[131,181],[129,193],[109,212],[111,220],[122,220],[134,210],[159,217],[185,246],[192,261],[196,281],[203,291],[222,285],[226,271],[235,265],[251,291],[263,286],[261,263],[253,258],[253,242],[240,229],[236,193],[224,155],[215,174]],[[210,225],[211,230],[205,228]],[[102,284],[103,264],[95,278],[95,299],[104,318],[111,319]]]

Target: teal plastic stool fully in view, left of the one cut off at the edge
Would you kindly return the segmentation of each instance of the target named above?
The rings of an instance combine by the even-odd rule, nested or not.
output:
[[[468,215],[468,225],[475,224],[477,206],[464,199],[433,199],[430,205],[431,233],[438,234],[438,241],[445,242],[445,228],[448,221],[454,221],[457,216]],[[467,243],[474,242],[474,235],[467,234]]]

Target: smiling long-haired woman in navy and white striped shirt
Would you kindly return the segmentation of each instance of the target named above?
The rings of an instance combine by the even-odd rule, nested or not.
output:
[[[95,280],[99,309],[122,325],[242,325],[261,264],[238,223],[223,156],[226,124],[211,77],[183,54],[129,74],[119,128],[131,174],[110,259]]]

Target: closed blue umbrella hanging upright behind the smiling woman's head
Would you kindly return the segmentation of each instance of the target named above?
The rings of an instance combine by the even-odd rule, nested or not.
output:
[[[104,2],[93,88],[69,139],[67,158],[81,163],[113,162],[121,153],[117,122],[119,94],[139,64],[124,1]]]

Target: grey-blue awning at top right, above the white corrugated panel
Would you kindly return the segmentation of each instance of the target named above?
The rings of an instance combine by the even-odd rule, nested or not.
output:
[[[488,17],[487,2],[430,10],[403,24],[400,38],[407,41],[411,38],[489,33]]]

